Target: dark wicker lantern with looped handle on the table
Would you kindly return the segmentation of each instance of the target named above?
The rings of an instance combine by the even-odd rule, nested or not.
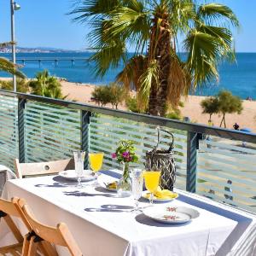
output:
[[[161,189],[169,189],[173,190],[173,184],[175,183],[176,179],[176,165],[175,160],[173,158],[173,143],[174,137],[171,132],[161,130],[160,128],[157,129],[157,145],[150,151],[146,153],[146,168],[148,170],[152,170],[157,168],[161,171],[160,177],[160,187]],[[172,142],[170,143],[170,147],[165,150],[159,148],[160,144],[160,131],[165,131],[172,137]]]

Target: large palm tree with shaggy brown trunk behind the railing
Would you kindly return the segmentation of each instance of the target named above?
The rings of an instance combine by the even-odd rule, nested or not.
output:
[[[218,79],[218,61],[234,57],[232,10],[218,3],[193,0],[77,0],[70,14],[89,22],[96,75],[125,62],[118,80],[136,87],[140,107],[165,115],[166,104]],[[183,59],[177,54],[183,37]],[[127,49],[135,49],[128,59]],[[144,54],[144,55],[143,55]]]

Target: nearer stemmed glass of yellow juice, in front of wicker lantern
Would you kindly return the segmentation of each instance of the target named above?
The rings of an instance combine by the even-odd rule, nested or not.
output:
[[[154,193],[156,192],[157,187],[159,185],[160,174],[161,172],[159,170],[150,170],[143,172],[146,189],[148,189],[148,191],[150,192],[149,203],[151,206],[153,205]]]

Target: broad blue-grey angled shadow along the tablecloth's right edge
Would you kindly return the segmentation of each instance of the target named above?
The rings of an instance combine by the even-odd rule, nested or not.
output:
[[[253,219],[252,218],[247,218],[241,214],[238,214],[236,212],[230,212],[227,209],[223,209],[223,208],[219,208],[219,207],[215,207],[212,206],[211,204],[207,203],[207,202],[203,202],[203,201],[199,201],[197,199],[191,198],[189,196],[186,195],[179,195],[179,197],[177,198],[178,201],[183,201],[185,203],[188,203],[189,205],[195,206],[195,207],[199,207],[201,209],[207,210],[209,212],[213,212],[216,213],[220,216],[223,216],[225,218],[230,218],[234,221],[237,222],[236,227],[234,230],[232,230],[232,232],[230,233],[230,236],[227,237],[227,239],[224,241],[224,244],[222,245],[222,247],[220,247],[218,249],[218,252],[215,254],[216,256],[223,256],[223,255],[227,255],[231,248],[233,248],[236,245],[236,242],[239,241],[239,239],[241,238],[241,236],[247,231],[248,234],[247,236],[244,238],[243,241],[241,241],[241,247],[239,249],[239,251],[241,251],[241,254],[236,254],[236,255],[256,255],[256,225],[254,225],[253,227],[250,227],[250,224],[253,223]],[[247,230],[247,229],[251,229],[251,230]],[[254,243],[254,250],[255,250],[255,254],[246,251],[249,248],[252,248],[252,244]],[[249,246],[251,245],[251,246]],[[241,249],[242,248],[242,249]]]

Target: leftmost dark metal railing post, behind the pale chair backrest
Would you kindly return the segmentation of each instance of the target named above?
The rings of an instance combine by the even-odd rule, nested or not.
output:
[[[19,160],[20,163],[25,162],[25,113],[26,99],[18,101],[18,132],[19,132]]]

